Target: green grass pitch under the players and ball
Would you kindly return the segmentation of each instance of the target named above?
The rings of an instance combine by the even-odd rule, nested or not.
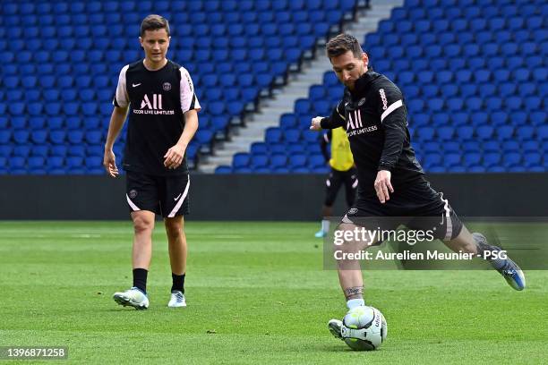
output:
[[[188,307],[169,309],[157,224],[149,310],[131,286],[130,222],[0,223],[0,346],[68,346],[71,363],[534,364],[548,353],[548,272],[518,293],[491,270],[365,272],[388,320],[376,352],[333,338],[345,301],[322,266],[317,223],[187,222]],[[30,361],[21,361],[29,363]]]

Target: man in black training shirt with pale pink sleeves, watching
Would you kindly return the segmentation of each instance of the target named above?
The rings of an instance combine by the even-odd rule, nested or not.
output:
[[[201,107],[189,73],[166,58],[170,38],[169,23],[162,16],[152,14],[141,22],[145,57],[120,72],[105,144],[103,165],[116,177],[113,145],[129,113],[123,166],[134,228],[133,286],[113,298],[137,310],[149,308],[146,284],[156,214],[164,218],[172,271],[167,305],[186,306],[183,216],[189,213],[190,179],[185,151],[198,129]]]

